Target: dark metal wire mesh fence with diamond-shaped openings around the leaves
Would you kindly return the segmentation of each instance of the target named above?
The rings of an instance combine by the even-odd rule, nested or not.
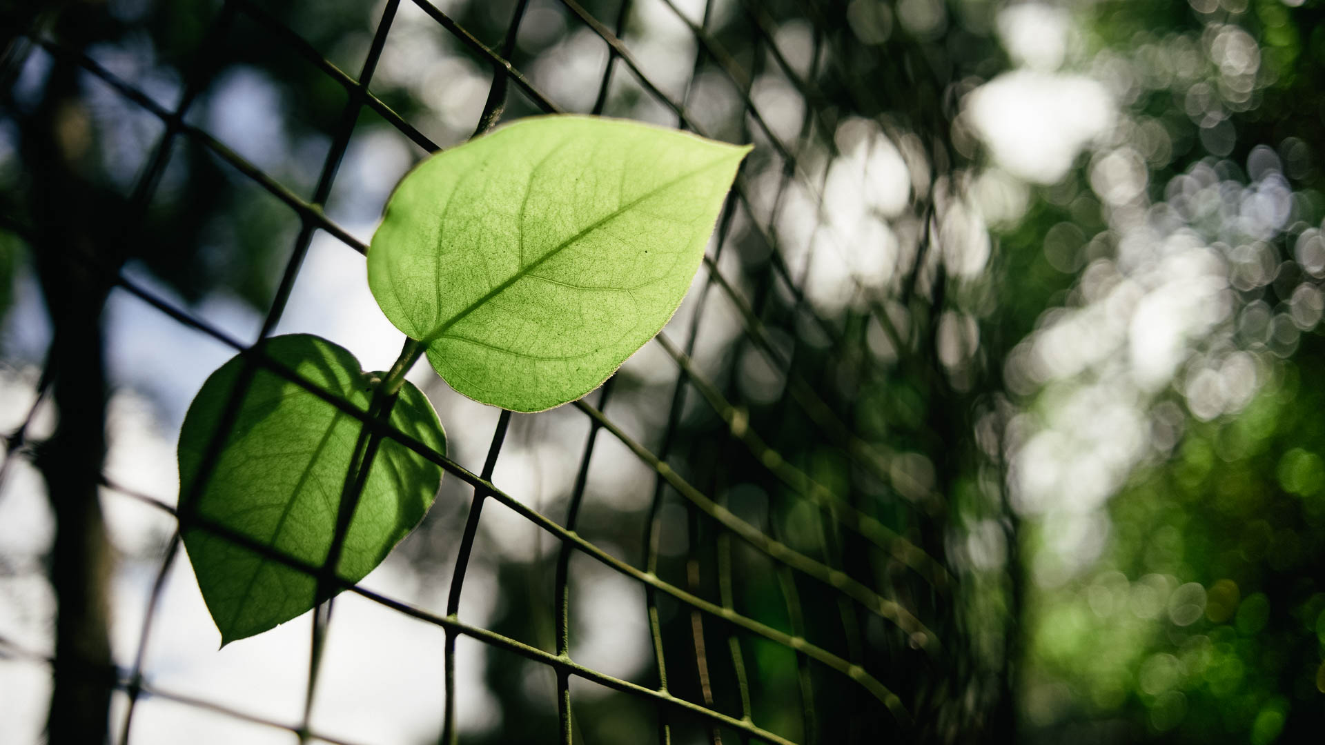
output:
[[[76,5],[62,12],[80,12]],[[107,236],[113,245],[70,252],[61,258],[65,265],[77,264],[83,272],[103,276],[107,289],[127,292],[175,322],[241,353],[248,365],[246,376],[233,400],[242,396],[244,386],[257,370],[284,376],[472,488],[464,529],[453,547],[454,563],[444,612],[428,611],[362,586],[342,587],[432,624],[444,635],[443,659],[416,660],[419,665],[444,668],[445,696],[436,703],[441,708],[440,742],[466,738],[461,737],[458,726],[461,713],[457,712],[456,689],[456,642],[461,636],[490,647],[494,655],[504,654],[500,664],[523,658],[555,673],[556,728],[547,729],[542,740],[549,742],[600,741],[583,720],[604,709],[586,708],[575,695],[586,681],[615,691],[612,701],[643,704],[631,711],[643,712],[644,732],[652,730],[647,737],[659,742],[877,742],[894,736],[942,741],[982,732],[998,707],[1004,673],[998,661],[990,663],[987,656],[980,656],[979,643],[963,620],[962,608],[970,604],[961,581],[963,570],[953,563],[946,549],[954,520],[951,494],[958,488],[955,473],[969,467],[962,460],[966,457],[963,451],[954,443],[969,427],[965,411],[975,394],[970,392],[970,384],[963,387],[953,382],[951,371],[939,361],[935,342],[947,302],[947,280],[945,255],[931,244],[937,243],[941,217],[937,212],[945,207],[945,188],[950,188],[945,184],[945,174],[959,158],[946,141],[950,111],[945,101],[959,65],[939,58],[942,44],[906,37],[901,32],[886,44],[861,41],[860,33],[853,33],[848,25],[848,17],[859,25],[861,8],[878,13],[888,8],[882,3],[860,0],[767,4],[706,0],[697,9],[678,8],[673,0],[604,0],[587,3],[588,7],[575,0],[514,0],[466,5],[457,12],[464,17],[509,13],[504,16],[500,37],[493,37],[486,28],[472,32],[457,20],[460,15],[453,17],[444,9],[445,4],[386,0],[379,4],[362,65],[351,73],[342,69],[342,60],[351,54],[319,50],[289,23],[294,11],[280,5],[282,8],[274,9],[252,0],[225,0],[208,7],[211,16],[191,19],[196,28],[205,30],[195,34],[200,38],[196,45],[171,52],[187,70],[174,106],[163,105],[160,95],[98,61],[95,53],[78,42],[77,33],[60,30],[65,27],[50,15],[36,13],[29,19],[28,30],[11,45],[11,52],[26,58],[45,57],[52,69],[91,76],[101,81],[98,85],[109,86],[118,97],[159,119],[163,127],[126,190],[127,196],[121,203],[123,220],[114,235]],[[303,5],[299,17],[317,16],[315,3]],[[637,15],[637,5],[670,13],[693,34],[693,60],[685,61],[689,74],[684,81],[655,81],[644,72],[645,65],[631,44],[623,41],[631,38],[632,23],[647,23],[639,20],[643,16]],[[876,5],[884,11],[877,11]],[[530,500],[522,494],[493,483],[502,445],[521,420],[556,414],[513,416],[502,411],[486,459],[476,468],[370,418],[262,354],[261,339],[281,321],[315,233],[334,236],[360,255],[367,251],[366,244],[338,224],[327,208],[335,199],[337,178],[352,147],[356,125],[366,117],[380,118],[417,147],[416,158],[440,150],[439,143],[424,134],[429,127],[411,115],[408,101],[395,101],[390,90],[382,93],[374,86],[392,29],[405,11],[421,11],[435,21],[439,38],[458,45],[464,54],[490,68],[490,87],[473,122],[473,135],[514,117],[564,110],[554,95],[535,85],[534,76],[513,62],[521,54],[529,56],[517,44],[522,29],[529,30],[531,23],[551,24],[549,12],[555,11],[556,23],[571,29],[566,33],[587,32],[607,50],[600,72],[571,81],[576,87],[595,91],[592,98],[584,95],[584,101],[592,101],[588,113],[620,115],[643,110],[627,109],[621,101],[651,101],[659,121],[665,114],[670,118],[666,123],[677,127],[757,144],[723,207],[704,258],[701,281],[686,300],[690,312],[684,315],[685,322],[670,325],[651,342],[676,370],[673,382],[666,386],[665,406],[656,406],[662,412],[659,426],[647,426],[647,433],[637,435],[632,432],[637,432],[639,426],[613,419],[613,403],[623,395],[621,386],[633,384],[623,382],[621,375],[570,404],[587,419],[588,433],[572,469],[575,477],[568,496],[555,505],[564,508],[559,514],[545,514],[530,506]],[[788,52],[786,29],[799,33],[808,44]],[[191,115],[205,97],[216,70],[228,62],[227,38],[256,32],[264,34],[264,44],[302,61],[306,70],[298,85],[335,86],[343,91],[344,103],[327,131],[330,147],[315,179],[310,179],[311,190],[309,184],[292,184],[282,174],[268,172],[245,159],[208,131],[203,119]],[[739,52],[727,50],[731,38],[745,40]],[[20,52],[13,52],[16,48],[21,48]],[[889,54],[896,57],[885,60]],[[861,74],[861,60],[868,60],[867,68],[877,72]],[[774,94],[755,85],[770,76],[783,84]],[[34,119],[36,114],[23,114],[23,106],[15,103],[12,86],[19,84],[4,82],[11,86],[7,106],[15,106],[16,121],[23,125],[25,115]],[[447,81],[436,85],[435,95],[449,94]],[[710,110],[712,103],[697,103],[696,90],[706,85],[725,86],[735,106],[718,115]],[[791,117],[799,122],[792,127],[786,126],[788,106],[799,106]],[[771,109],[779,109],[775,117]],[[843,125],[852,117],[880,122],[882,131],[909,143],[900,152],[912,174],[912,190],[902,217],[889,217],[902,236],[897,241],[900,248],[880,258],[889,262],[890,280],[880,284],[847,269],[851,276],[844,286],[849,288],[849,297],[828,308],[811,297],[807,282],[815,252],[835,251],[835,247],[822,245],[825,240],[840,243],[839,237],[820,236],[833,229],[829,215],[833,204],[825,199],[829,163],[845,147]],[[208,152],[215,167],[224,168],[229,178],[252,182],[293,211],[298,220],[293,251],[280,268],[280,281],[256,339],[228,334],[122,272],[125,261],[134,257],[135,236],[146,231],[143,225],[152,216],[154,200],[160,190],[170,188],[163,183],[168,182],[171,159],[180,156],[184,147],[195,154],[199,150]],[[314,172],[309,163],[303,166]],[[798,217],[814,229],[806,235],[787,235],[787,225],[794,220],[784,211],[804,211],[806,205],[810,212]],[[21,211],[11,209],[5,223],[7,229],[37,247],[34,251],[49,245],[40,235],[40,219],[25,219]],[[256,270],[269,268],[270,264]],[[725,305],[729,315],[739,319],[741,333],[727,343],[729,351],[719,365],[705,366],[697,362],[697,349],[704,345],[706,321],[717,305]],[[58,319],[56,327],[58,334]],[[60,376],[54,365],[50,362],[41,378],[42,395]],[[750,400],[738,382],[741,365],[755,365],[771,376],[776,382],[775,395]],[[869,382],[890,376],[924,380],[930,395],[916,402],[909,424],[880,427],[865,412],[869,402],[859,400],[859,395]],[[465,426],[462,422],[445,423],[448,428]],[[229,424],[223,423],[216,432],[213,449],[204,460],[204,473],[215,464]],[[636,546],[624,551],[637,561],[623,559],[623,550],[595,540],[595,528],[582,521],[582,513],[590,509],[592,489],[588,484],[595,464],[604,457],[621,457],[602,452],[604,439],[617,440],[631,457],[652,472],[643,536]],[[26,430],[20,428],[9,437],[8,452],[12,457],[40,452],[40,443],[29,441]],[[910,468],[917,457],[925,465]],[[197,488],[203,481],[199,479]],[[741,483],[757,484],[771,494],[762,522],[729,504],[733,489]],[[325,573],[325,567],[303,565],[242,536],[227,533],[189,514],[186,508],[176,510],[170,494],[140,494],[106,477],[102,485],[115,494],[107,498],[146,501],[176,516],[179,526],[216,530],[269,559],[310,574]],[[558,544],[554,565],[530,570],[551,574],[555,624],[551,648],[477,626],[461,612],[466,569],[482,545],[480,521],[486,516],[485,508],[490,512],[488,505],[492,502],[513,510]],[[188,494],[180,494],[179,504],[189,504]],[[669,514],[677,514],[669,512],[668,505],[678,505],[685,516],[678,530],[686,549],[680,554],[664,550],[662,545],[665,533],[677,529],[668,522]],[[456,510],[453,514],[464,513]],[[796,534],[788,536],[788,530]],[[303,715],[298,721],[269,721],[152,683],[147,651],[158,631],[154,614],[171,567],[180,561],[179,547],[180,529],[176,528],[151,586],[144,620],[138,630],[136,656],[130,667],[113,669],[113,687],[123,692],[127,705],[111,740],[132,742],[136,707],[147,699],[160,697],[281,728],[297,736],[299,742],[346,742],[335,732],[319,730],[310,721],[337,601],[327,601],[315,610]],[[645,683],[607,675],[571,656],[572,558],[576,555],[599,562],[644,590],[653,651],[652,673]],[[11,661],[34,655],[13,642],[0,640],[0,656]],[[779,659],[790,664],[778,663]],[[57,679],[74,675],[70,668],[61,668],[58,659],[46,661],[54,664]],[[507,708],[506,716],[525,715]],[[538,720],[537,712],[529,717]]]

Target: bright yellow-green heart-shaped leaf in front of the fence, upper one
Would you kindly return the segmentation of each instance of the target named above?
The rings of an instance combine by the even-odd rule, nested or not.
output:
[[[368,285],[457,391],[514,411],[600,384],[676,312],[749,147],[535,117],[408,174]]]

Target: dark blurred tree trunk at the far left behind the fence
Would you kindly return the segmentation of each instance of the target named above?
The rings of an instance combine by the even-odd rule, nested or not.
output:
[[[64,41],[81,48],[74,38]],[[101,310],[110,290],[105,196],[81,178],[89,158],[90,122],[78,97],[78,73],[56,61],[45,95],[24,122],[23,147],[33,255],[53,338],[45,379],[58,411],[54,435],[40,445],[36,463],[46,480],[56,540],[50,583],[58,603],[54,689],[46,720],[50,745],[106,741],[110,693],[115,685],[107,631],[111,553],[98,485],[106,451],[106,380]]]

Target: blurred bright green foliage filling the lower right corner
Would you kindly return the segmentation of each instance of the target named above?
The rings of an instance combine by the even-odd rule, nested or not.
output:
[[[1325,692],[1325,343],[1309,337],[1238,416],[1194,422],[1110,505],[1094,570],[1035,608],[1032,717],[1072,701],[1126,738],[1310,740]],[[1283,730],[1283,733],[1281,733]]]

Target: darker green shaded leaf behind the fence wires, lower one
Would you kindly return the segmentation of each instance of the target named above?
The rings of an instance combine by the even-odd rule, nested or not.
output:
[[[352,354],[305,334],[268,341],[266,354],[325,390],[368,410],[374,383]],[[179,436],[180,498],[187,500],[213,432],[227,411],[242,361],[221,366],[197,392]],[[445,435],[424,395],[404,383],[391,424],[444,452]],[[360,422],[326,400],[258,370],[238,406],[221,455],[192,506],[203,525],[184,529],[203,599],[221,643],[266,631],[314,606],[317,578],[208,530],[207,521],[310,565],[321,565]],[[423,518],[441,469],[386,439],[372,461],[337,573],[358,582]],[[182,505],[182,514],[189,505]]]

